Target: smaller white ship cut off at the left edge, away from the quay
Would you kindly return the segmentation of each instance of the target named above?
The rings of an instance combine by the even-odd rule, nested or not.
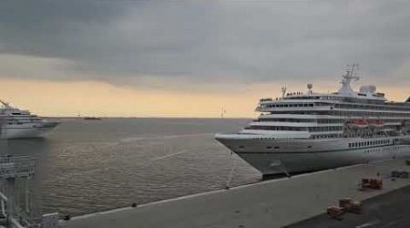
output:
[[[46,121],[0,100],[0,139],[40,137],[56,125],[58,122]]]

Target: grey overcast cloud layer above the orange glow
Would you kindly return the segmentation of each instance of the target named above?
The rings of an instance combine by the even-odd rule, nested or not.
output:
[[[0,78],[220,91],[336,84],[353,61],[410,86],[409,1],[0,2]]]

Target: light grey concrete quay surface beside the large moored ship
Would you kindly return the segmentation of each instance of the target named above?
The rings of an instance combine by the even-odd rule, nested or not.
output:
[[[390,180],[394,170],[410,171],[405,160],[379,161],[292,178],[204,192],[176,199],[96,212],[69,221],[63,228],[88,227],[282,227],[325,212],[339,198],[363,201],[410,184],[410,179]],[[383,190],[361,192],[362,178],[384,181]],[[364,204],[365,206],[365,204]]]

